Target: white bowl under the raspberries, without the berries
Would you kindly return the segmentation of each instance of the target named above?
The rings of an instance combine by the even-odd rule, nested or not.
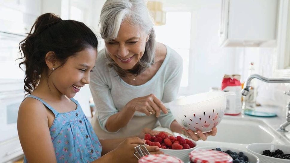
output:
[[[170,149],[163,149],[163,148],[159,148],[159,150],[162,151],[166,155],[175,156],[181,159],[183,162],[188,162],[189,153],[198,146],[195,141],[192,140],[192,142],[195,144],[195,147],[189,148],[186,150],[170,150]],[[144,144],[144,145],[147,145],[147,144]]]

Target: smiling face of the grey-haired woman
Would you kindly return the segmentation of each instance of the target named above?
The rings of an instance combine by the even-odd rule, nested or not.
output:
[[[124,70],[132,69],[145,51],[149,35],[138,26],[124,21],[116,39],[106,41],[106,50],[110,57]]]

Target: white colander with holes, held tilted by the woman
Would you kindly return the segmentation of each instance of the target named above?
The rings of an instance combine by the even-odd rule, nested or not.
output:
[[[228,95],[233,92],[207,92],[166,103],[175,120],[186,130],[209,132],[224,116]]]

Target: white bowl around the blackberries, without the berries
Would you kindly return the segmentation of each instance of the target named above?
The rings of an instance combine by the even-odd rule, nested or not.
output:
[[[271,144],[271,143],[253,143],[247,146],[247,150],[250,153],[258,156],[261,162],[263,163],[290,163],[290,160],[279,159],[275,157],[262,155],[264,150],[270,150],[274,152],[275,150],[282,150],[284,153],[290,153],[290,146],[282,145],[282,144]]]

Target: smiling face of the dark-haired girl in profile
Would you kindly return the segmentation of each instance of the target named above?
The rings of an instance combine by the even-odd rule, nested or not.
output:
[[[73,98],[85,85],[89,84],[89,74],[95,67],[97,50],[86,48],[75,56],[69,57],[66,63],[55,69],[49,78],[53,86],[68,98]]]

